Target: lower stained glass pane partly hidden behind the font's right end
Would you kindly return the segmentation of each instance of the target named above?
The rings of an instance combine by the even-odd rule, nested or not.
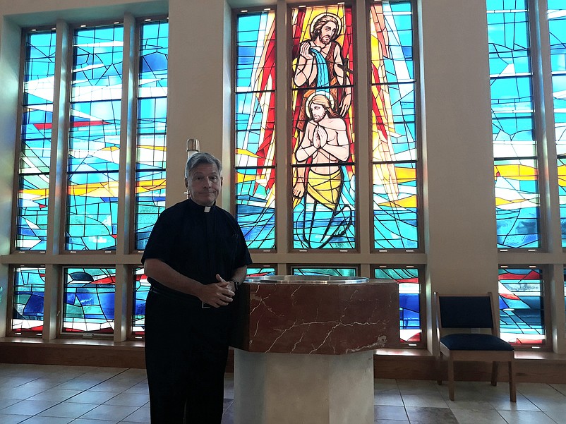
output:
[[[374,277],[399,284],[399,332],[401,343],[416,346],[423,341],[421,327],[421,284],[419,269],[379,267]]]

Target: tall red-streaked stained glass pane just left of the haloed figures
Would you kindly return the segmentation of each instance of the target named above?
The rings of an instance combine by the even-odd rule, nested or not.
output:
[[[236,219],[248,247],[275,248],[275,11],[236,16]]]

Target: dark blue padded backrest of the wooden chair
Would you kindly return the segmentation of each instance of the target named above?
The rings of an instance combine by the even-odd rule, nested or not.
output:
[[[491,292],[486,294],[434,293],[438,332],[442,328],[486,328],[497,333]]]

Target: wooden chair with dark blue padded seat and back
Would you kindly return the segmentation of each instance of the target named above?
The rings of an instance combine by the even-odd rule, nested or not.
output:
[[[509,396],[517,401],[514,382],[514,348],[498,336],[498,316],[493,310],[491,292],[481,295],[446,295],[434,293],[437,335],[440,341],[440,361],[448,360],[448,393],[454,400],[454,361],[491,362],[491,385],[497,385],[498,362],[509,368]],[[444,334],[443,329],[452,329]],[[483,332],[481,332],[483,329]],[[490,329],[490,334],[486,334]],[[456,332],[453,332],[456,331]],[[439,365],[440,365],[439,361]],[[440,370],[438,384],[442,384]]]

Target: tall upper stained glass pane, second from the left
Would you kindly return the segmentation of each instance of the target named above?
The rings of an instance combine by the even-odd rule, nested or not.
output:
[[[74,33],[67,250],[116,248],[123,47],[122,25]]]

